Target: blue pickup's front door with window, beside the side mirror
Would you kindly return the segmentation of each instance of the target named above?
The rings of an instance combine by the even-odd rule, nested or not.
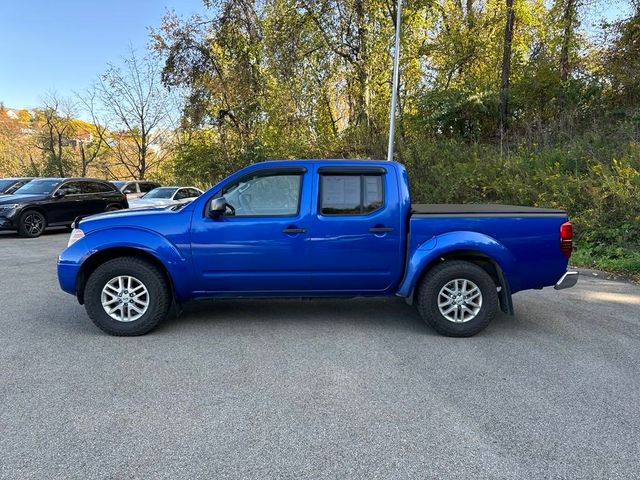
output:
[[[308,177],[302,167],[255,170],[213,196],[225,197],[229,207],[224,215],[194,212],[196,294],[269,296],[309,290]]]

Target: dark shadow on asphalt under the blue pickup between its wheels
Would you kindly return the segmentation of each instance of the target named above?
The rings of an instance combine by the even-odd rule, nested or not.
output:
[[[169,318],[158,332],[174,329],[269,329],[313,326],[348,327],[355,330],[394,330],[437,335],[427,326],[415,308],[398,298],[357,299],[242,299],[190,302],[178,318]]]

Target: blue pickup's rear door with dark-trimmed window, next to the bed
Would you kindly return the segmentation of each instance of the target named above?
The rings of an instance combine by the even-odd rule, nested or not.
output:
[[[404,264],[395,170],[321,166],[314,184],[313,289],[375,294],[394,288]]]

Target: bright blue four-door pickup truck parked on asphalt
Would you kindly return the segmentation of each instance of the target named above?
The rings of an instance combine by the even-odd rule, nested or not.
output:
[[[399,163],[287,160],[187,205],[81,220],[58,277],[113,335],[145,334],[188,300],[396,295],[463,337],[512,313],[515,292],[573,286],[571,250],[563,210],[412,205]]]

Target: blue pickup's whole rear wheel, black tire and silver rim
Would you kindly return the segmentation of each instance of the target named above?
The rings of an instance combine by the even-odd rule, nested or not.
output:
[[[418,312],[435,331],[470,337],[496,316],[498,290],[478,265],[452,260],[430,270],[418,289]]]

